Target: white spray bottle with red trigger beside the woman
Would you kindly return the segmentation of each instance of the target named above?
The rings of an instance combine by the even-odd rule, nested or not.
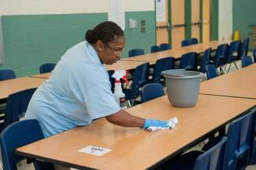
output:
[[[117,70],[114,72],[112,77],[116,79],[115,88],[114,88],[114,97],[116,99],[116,102],[120,106],[120,108],[127,109],[127,107],[125,106],[125,94],[122,91],[122,86],[120,81],[120,79],[123,79],[127,84],[129,84],[127,80],[127,74],[125,70]]]

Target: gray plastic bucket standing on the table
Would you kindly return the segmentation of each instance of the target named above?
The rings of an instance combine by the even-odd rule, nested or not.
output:
[[[183,69],[162,72],[166,78],[166,91],[174,107],[193,107],[199,97],[201,73]]]

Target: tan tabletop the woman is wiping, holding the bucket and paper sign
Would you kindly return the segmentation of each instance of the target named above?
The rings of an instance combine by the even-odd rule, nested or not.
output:
[[[225,103],[225,104],[224,104]],[[172,107],[167,96],[127,109],[132,115],[155,119],[177,117],[172,130],[149,132],[123,128],[97,119],[82,126],[20,147],[17,154],[78,169],[147,169],[188,149],[212,130],[253,107],[256,100],[199,95],[195,107]],[[94,145],[112,151],[103,156],[77,152]]]

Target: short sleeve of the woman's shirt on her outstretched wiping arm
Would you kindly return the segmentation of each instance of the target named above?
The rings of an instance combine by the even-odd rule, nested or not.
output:
[[[105,117],[120,111],[108,83],[99,83],[88,89],[85,103],[91,119]]]

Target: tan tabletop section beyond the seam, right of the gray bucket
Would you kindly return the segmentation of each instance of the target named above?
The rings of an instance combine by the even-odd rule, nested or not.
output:
[[[256,64],[201,83],[200,94],[256,99]]]

